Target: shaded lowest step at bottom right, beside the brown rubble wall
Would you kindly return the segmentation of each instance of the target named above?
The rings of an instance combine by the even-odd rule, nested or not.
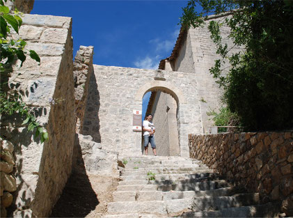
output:
[[[218,215],[203,213],[201,216],[200,212],[184,212],[180,215],[180,218],[184,217],[278,217],[280,207],[273,203],[261,204],[261,205],[250,205],[239,208],[225,208],[223,210],[216,211]]]

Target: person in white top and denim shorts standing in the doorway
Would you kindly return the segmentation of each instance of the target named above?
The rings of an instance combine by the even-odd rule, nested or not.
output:
[[[150,120],[152,120],[152,114],[148,114],[147,116],[145,116],[145,120],[143,120],[143,146],[145,148],[145,155],[148,155],[148,143],[150,143],[150,146],[152,146],[152,152],[155,156],[157,156],[154,137],[155,125],[153,123],[150,123]]]

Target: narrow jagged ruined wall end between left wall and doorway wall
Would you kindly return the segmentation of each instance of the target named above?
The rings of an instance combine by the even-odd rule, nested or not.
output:
[[[93,74],[93,46],[79,47],[73,63],[75,115],[77,132],[81,132],[88,99],[88,84]]]

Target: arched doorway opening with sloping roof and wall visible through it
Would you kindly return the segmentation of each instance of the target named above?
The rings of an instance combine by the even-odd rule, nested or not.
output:
[[[143,96],[143,119],[146,114],[152,114],[152,123],[156,127],[155,143],[159,156],[180,155],[177,111],[178,103],[166,89],[152,88]],[[148,155],[153,155],[150,148]]]

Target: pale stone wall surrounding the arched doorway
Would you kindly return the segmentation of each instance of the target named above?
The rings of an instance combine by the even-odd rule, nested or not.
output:
[[[140,155],[141,132],[132,130],[132,112],[142,109],[148,91],[169,93],[178,102],[180,155],[187,157],[188,132],[200,133],[200,114],[195,79],[182,72],[157,72],[135,68],[93,65],[83,134],[101,142],[102,149]],[[160,80],[157,80],[157,79]],[[192,120],[193,122],[190,122]]]

